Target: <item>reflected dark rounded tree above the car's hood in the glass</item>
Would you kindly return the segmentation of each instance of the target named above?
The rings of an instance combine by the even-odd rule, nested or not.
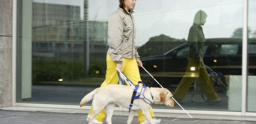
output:
[[[160,34],[151,37],[145,45],[138,48],[138,53],[141,57],[163,55],[172,48],[186,42],[185,39],[175,39],[167,35]]]

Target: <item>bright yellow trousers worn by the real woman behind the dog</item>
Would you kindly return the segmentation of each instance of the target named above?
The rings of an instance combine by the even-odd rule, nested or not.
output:
[[[122,72],[135,85],[138,84],[138,81],[141,81],[139,68],[138,68],[137,61],[135,58],[122,58]],[[116,62],[114,62],[111,59],[110,55],[107,55],[106,79],[104,80],[104,82],[101,84],[100,87],[103,87],[108,84],[118,84],[118,82],[119,82],[119,78],[116,73]],[[92,111],[93,110],[91,107],[89,115],[92,114]],[[146,118],[142,114],[142,111],[137,111],[137,113],[138,113],[138,122],[142,122],[142,121],[146,120]],[[155,116],[152,111],[152,107],[150,108],[150,114],[151,114],[152,118]],[[106,112],[103,110],[94,119],[96,119],[100,122],[103,122],[105,116],[106,116]]]

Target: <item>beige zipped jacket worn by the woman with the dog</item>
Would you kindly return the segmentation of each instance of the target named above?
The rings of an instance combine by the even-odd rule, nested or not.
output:
[[[122,63],[122,57],[136,59],[140,57],[135,47],[136,28],[133,13],[134,11],[128,13],[118,8],[109,17],[110,47],[107,54],[117,63]]]

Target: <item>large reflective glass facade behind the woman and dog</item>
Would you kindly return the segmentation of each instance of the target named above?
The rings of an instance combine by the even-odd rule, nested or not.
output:
[[[118,0],[17,1],[17,102],[78,105],[105,79],[108,17]],[[256,112],[256,0],[248,3],[247,111]],[[243,9],[243,0],[136,1],[136,46],[143,66],[171,92],[184,77],[193,79],[186,84],[183,108],[241,112]],[[204,64],[222,100],[218,104],[201,95],[200,73],[186,71],[188,36],[200,10],[207,14],[201,26]],[[143,68],[140,73],[147,86],[159,87]]]

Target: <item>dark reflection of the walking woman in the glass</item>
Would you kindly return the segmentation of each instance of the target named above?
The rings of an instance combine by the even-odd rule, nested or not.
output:
[[[207,70],[203,62],[203,47],[205,42],[205,36],[201,25],[206,23],[207,14],[204,11],[197,11],[194,18],[194,24],[191,26],[188,34],[189,52],[188,52],[188,67],[186,73],[193,72],[191,67],[196,68],[196,72],[199,73],[199,83],[205,94],[206,101],[209,103],[218,103],[221,100],[218,98],[217,93],[213,90],[210,82]],[[176,90],[173,92],[173,96],[178,101],[183,101],[189,87],[194,82],[193,77],[183,77]]]

